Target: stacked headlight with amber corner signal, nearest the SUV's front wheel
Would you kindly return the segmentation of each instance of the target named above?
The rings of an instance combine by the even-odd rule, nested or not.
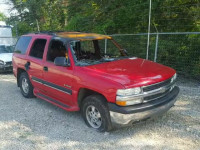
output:
[[[140,97],[134,97],[134,95],[141,94],[140,87],[131,89],[119,89],[117,90],[116,104],[120,106],[128,106],[142,103],[143,99]]]

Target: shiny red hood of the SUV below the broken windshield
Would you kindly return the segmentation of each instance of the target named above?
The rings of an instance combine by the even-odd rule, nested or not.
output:
[[[92,66],[87,69],[124,85],[125,88],[154,84],[172,77],[170,67],[140,58],[122,59]]]

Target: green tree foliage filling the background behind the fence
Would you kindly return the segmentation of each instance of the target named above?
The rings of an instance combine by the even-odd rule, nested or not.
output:
[[[68,30],[102,34],[146,33],[149,0],[11,0],[18,14],[7,23],[19,35],[38,30]],[[153,0],[151,32],[200,31],[199,0]],[[1,16],[0,16],[1,17]],[[37,25],[38,22],[38,25]],[[129,54],[145,58],[147,36],[116,39]],[[149,58],[154,57],[151,36]],[[199,36],[161,36],[158,61],[200,76]],[[194,46],[195,45],[195,46]],[[196,59],[193,59],[193,58]],[[190,60],[190,61],[188,61]],[[185,66],[183,66],[183,64]]]

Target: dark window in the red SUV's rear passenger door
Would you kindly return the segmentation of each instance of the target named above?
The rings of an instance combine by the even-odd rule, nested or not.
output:
[[[30,51],[30,56],[42,59],[46,42],[47,40],[45,39],[35,40]]]

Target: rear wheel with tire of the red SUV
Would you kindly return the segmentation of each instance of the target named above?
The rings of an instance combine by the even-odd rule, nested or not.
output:
[[[26,97],[26,98],[34,97],[33,86],[31,84],[28,74],[26,72],[23,72],[20,74],[19,87],[20,87],[21,93],[24,97]]]

